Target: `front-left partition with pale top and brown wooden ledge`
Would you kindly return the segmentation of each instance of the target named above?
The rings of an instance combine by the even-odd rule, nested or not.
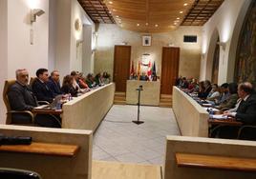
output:
[[[0,133],[33,141],[32,146],[1,146],[0,168],[33,170],[43,179],[91,179],[91,130],[0,125]]]

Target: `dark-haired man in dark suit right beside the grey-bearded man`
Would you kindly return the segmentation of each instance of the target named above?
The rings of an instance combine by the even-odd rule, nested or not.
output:
[[[47,86],[49,80],[48,75],[48,70],[38,69],[36,71],[37,78],[32,83],[32,91],[37,100],[52,103],[54,96],[53,91]]]

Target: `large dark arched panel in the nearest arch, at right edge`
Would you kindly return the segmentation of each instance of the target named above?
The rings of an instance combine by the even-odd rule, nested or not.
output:
[[[240,33],[234,78],[256,84],[256,1],[251,1]]]

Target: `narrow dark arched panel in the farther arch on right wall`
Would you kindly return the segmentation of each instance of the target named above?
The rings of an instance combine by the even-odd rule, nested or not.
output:
[[[217,42],[219,42],[219,37]],[[219,75],[219,61],[220,61],[220,46],[216,43],[213,63],[212,63],[212,73],[211,73],[211,82],[213,84],[218,84],[218,75]]]

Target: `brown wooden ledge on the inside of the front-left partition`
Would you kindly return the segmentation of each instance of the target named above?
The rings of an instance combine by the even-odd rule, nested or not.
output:
[[[37,143],[37,142],[32,142],[31,145],[0,146],[0,151],[35,153],[35,154],[68,156],[68,157],[75,156],[78,149],[79,147],[75,145],[61,145],[61,144]]]

